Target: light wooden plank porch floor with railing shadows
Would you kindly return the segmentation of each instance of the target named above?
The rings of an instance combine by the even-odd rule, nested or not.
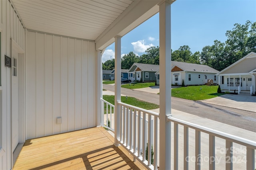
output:
[[[102,127],[29,139],[13,170],[145,169]]]

